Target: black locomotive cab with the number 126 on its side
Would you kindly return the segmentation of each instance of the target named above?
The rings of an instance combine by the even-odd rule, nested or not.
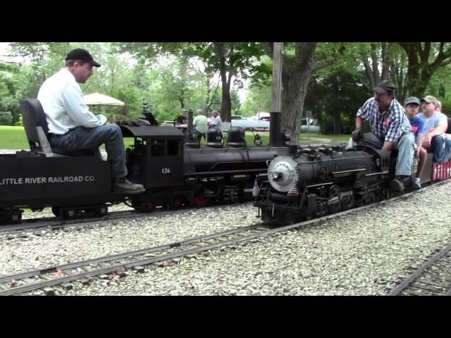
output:
[[[134,137],[127,149],[128,178],[144,187],[183,184],[183,132],[175,127],[121,125],[124,137]]]

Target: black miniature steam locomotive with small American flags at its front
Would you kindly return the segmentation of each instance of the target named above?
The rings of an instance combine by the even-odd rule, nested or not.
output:
[[[290,149],[268,165],[268,180],[256,187],[254,206],[264,223],[285,225],[390,198],[399,194],[389,184],[396,158],[397,151],[369,146]],[[451,162],[432,163],[428,154],[422,184],[449,178]]]

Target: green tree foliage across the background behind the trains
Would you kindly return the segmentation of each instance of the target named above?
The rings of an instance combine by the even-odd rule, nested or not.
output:
[[[272,43],[254,42],[14,42],[21,61],[0,61],[0,123],[20,124],[20,99],[36,97],[47,77],[64,66],[74,48],[101,63],[84,94],[100,92],[125,102],[137,118],[149,101],[156,118],[173,120],[180,108],[256,115],[271,108]],[[282,127],[296,139],[304,110],[323,132],[349,132],[355,113],[380,80],[397,86],[396,98],[432,94],[451,111],[451,45],[438,42],[286,42],[283,54]],[[242,89],[247,87],[241,102]],[[240,95],[238,95],[240,92]],[[102,108],[110,120],[122,108]],[[95,112],[97,113],[97,111]]]

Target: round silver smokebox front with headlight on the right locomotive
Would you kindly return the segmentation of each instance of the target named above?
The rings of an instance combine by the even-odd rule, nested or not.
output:
[[[299,181],[297,162],[286,156],[278,156],[268,167],[268,180],[278,192],[288,192]]]

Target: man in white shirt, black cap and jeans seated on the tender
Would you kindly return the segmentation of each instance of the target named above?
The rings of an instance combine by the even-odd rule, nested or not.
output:
[[[105,144],[114,191],[139,194],[145,191],[144,187],[126,178],[128,170],[121,128],[104,124],[105,119],[91,113],[83,100],[79,83],[85,83],[92,75],[93,66],[100,67],[88,51],[74,49],[66,57],[66,68],[45,80],[39,89],[37,99],[46,114],[50,145],[94,149],[99,156],[99,146]]]

